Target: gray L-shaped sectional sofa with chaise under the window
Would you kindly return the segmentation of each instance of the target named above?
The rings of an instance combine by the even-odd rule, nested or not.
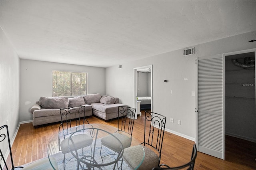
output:
[[[96,115],[109,121],[117,118],[118,106],[127,106],[118,103],[119,99],[112,96],[101,96],[100,93],[83,95],[78,97],[40,97],[30,109],[33,115],[32,124],[34,127],[47,123],[61,121],[60,109],[67,107],[85,106],[85,115]]]

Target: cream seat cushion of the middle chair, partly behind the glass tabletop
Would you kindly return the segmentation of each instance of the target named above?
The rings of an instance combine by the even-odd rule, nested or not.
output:
[[[113,135],[120,140],[123,148],[128,148],[131,146],[132,138],[126,134],[113,133]],[[102,145],[114,150],[115,152],[120,151],[120,143],[112,136],[108,135],[101,139]]]

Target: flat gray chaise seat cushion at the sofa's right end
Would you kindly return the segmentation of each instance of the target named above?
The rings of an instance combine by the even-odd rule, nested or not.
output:
[[[121,103],[112,104],[112,105],[106,105],[103,103],[92,103],[91,105],[92,105],[92,109],[101,111],[106,114],[114,113],[114,112],[118,113],[118,106],[127,106]]]

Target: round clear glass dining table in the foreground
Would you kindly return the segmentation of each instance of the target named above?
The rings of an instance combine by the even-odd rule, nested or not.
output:
[[[131,170],[130,166],[122,158],[124,154],[122,142],[113,135],[117,131],[118,128],[106,124],[86,124],[60,131],[58,136],[54,136],[48,144],[48,158],[52,168],[54,170]],[[129,135],[122,131],[119,131],[119,133]],[[91,138],[91,140],[86,140],[87,142],[90,141],[90,144],[79,146],[81,142],[77,141],[83,140],[82,136],[87,136],[87,139]],[[115,146],[118,146],[118,152],[101,144],[101,139],[105,136],[111,136],[110,140]],[[64,140],[69,151],[66,154],[63,153],[64,148],[61,148],[64,145],[60,144]],[[138,140],[132,138],[131,146],[139,144]],[[138,153],[138,158],[135,169],[142,164],[145,156],[142,146],[138,146],[136,152]],[[53,158],[56,160],[57,165],[52,162]]]

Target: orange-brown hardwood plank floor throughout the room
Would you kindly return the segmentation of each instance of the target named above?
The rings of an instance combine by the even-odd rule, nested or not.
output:
[[[97,117],[88,117],[89,123],[104,123],[117,127],[117,119],[105,122]],[[133,137],[143,140],[143,112],[134,123]],[[47,144],[58,134],[59,123],[34,128],[32,123],[21,124],[14,143],[12,154],[14,165],[20,166],[40,158],[47,157]],[[225,159],[198,152],[194,169],[205,170],[255,170],[256,143],[248,142],[231,136],[226,136]],[[190,160],[194,142],[175,134],[165,132],[161,163],[169,166],[179,166]],[[10,164],[10,161],[8,162]]]

